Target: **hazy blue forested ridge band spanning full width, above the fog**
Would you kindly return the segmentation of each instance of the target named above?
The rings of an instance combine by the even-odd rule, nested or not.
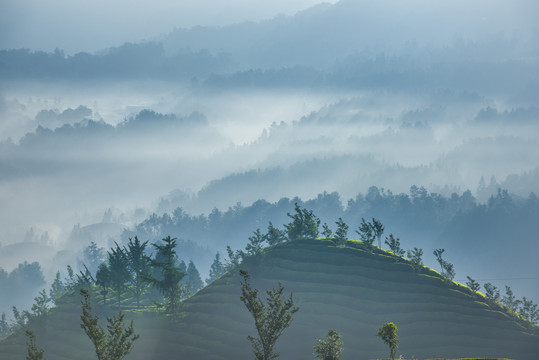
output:
[[[424,63],[426,60],[427,63]],[[433,63],[429,61],[434,61]],[[521,89],[539,64],[518,61],[446,61],[403,56],[349,56],[325,69],[307,63],[241,65],[233,54],[183,49],[167,54],[159,42],[126,43],[97,54],[29,49],[0,51],[1,79],[161,79],[220,87]]]

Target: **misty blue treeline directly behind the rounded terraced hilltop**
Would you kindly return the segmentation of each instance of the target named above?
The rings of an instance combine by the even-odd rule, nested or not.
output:
[[[226,211],[214,208],[208,215],[192,215],[178,207],[162,215],[152,214],[132,231],[125,230],[122,238],[138,235],[154,241],[174,234],[201,244],[241,247],[253,229],[265,230],[269,221],[275,226],[286,223],[286,213],[295,203],[313,210],[333,230],[339,217],[351,227],[358,226],[362,217],[376,217],[391,227],[389,232],[416,246],[428,242],[434,247],[437,242],[449,241],[486,251],[485,241],[490,246],[508,241],[517,245],[539,232],[539,199],[533,193],[520,198],[498,190],[481,204],[470,191],[446,197],[417,186],[412,186],[409,194],[393,194],[373,186],[366,194],[348,200],[346,206],[338,193],[324,192],[308,201],[296,197],[274,203],[258,200],[249,206],[238,203]],[[163,200],[160,207],[170,208],[170,204]]]

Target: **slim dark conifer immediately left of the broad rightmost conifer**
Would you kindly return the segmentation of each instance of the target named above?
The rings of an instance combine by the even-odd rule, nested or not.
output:
[[[129,264],[129,270],[132,276],[130,277],[131,285],[135,290],[135,298],[137,299],[137,308],[140,308],[140,297],[146,289],[147,282],[145,277],[150,272],[150,262],[144,254],[148,241],[141,242],[137,236],[134,240],[129,238],[127,249],[125,251]]]

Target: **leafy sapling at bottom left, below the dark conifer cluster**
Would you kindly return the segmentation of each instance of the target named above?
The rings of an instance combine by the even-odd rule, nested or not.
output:
[[[88,291],[81,290],[83,296],[82,315],[80,327],[86,332],[95,347],[98,360],[120,360],[131,352],[133,342],[140,335],[135,335],[133,321],[124,328],[124,314],[120,311],[118,316],[107,317],[107,332],[98,325],[99,318],[92,314],[90,295]]]

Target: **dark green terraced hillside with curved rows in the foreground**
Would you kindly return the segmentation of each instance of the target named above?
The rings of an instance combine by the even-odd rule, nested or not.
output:
[[[387,348],[375,334],[388,321],[399,327],[398,354],[406,358],[533,359],[539,353],[539,336],[490,308],[480,295],[397,260],[381,250],[366,252],[359,242],[340,248],[313,240],[267,249],[242,268],[260,290],[280,281],[301,307],[277,344],[282,359],[312,359],[315,339],[329,329],[342,333],[344,359],[386,357]],[[141,338],[127,359],[252,359],[246,337],[255,334],[253,320],[239,296],[234,271],[186,301],[177,324],[152,312],[129,312]],[[48,359],[94,357],[78,325],[79,311],[76,304],[62,305],[31,324]],[[24,353],[20,334],[0,345],[2,359]]]

